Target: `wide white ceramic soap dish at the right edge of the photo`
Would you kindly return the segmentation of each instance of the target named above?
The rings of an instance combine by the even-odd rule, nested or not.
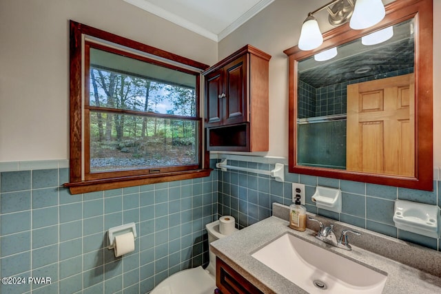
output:
[[[440,238],[440,207],[438,205],[396,200],[393,222],[398,229],[431,238]]]

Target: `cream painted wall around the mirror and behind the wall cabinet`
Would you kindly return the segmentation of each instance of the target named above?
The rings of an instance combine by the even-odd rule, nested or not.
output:
[[[391,0],[383,1],[390,3]],[[283,50],[298,43],[300,28],[308,12],[329,3],[328,0],[276,0],[256,17],[221,40],[219,59],[245,44],[271,54],[269,62],[269,152],[267,156],[288,156],[288,62]],[[433,1],[433,15],[441,14],[441,1]],[[314,14],[320,29],[334,28],[327,21],[327,12]],[[433,19],[433,81],[441,79],[441,19]],[[433,85],[434,165],[441,165],[441,85]]]

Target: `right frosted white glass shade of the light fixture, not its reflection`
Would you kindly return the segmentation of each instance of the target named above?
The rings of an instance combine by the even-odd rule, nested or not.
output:
[[[384,19],[385,15],[386,10],[381,0],[357,0],[349,27],[353,30],[370,28]]]

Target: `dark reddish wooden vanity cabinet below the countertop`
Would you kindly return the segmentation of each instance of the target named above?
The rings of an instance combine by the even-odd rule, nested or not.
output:
[[[216,286],[222,294],[263,294],[245,277],[216,257]]]

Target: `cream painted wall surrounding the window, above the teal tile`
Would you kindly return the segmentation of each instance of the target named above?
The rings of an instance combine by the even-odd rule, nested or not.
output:
[[[217,44],[123,0],[0,1],[0,162],[69,158],[69,20],[208,65]]]

